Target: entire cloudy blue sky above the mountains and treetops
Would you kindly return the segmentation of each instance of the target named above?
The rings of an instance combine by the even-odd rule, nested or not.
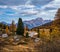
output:
[[[60,0],[0,0],[0,22],[38,17],[53,20],[58,8]]]

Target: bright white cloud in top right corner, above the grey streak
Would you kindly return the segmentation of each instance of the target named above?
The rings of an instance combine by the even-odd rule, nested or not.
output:
[[[53,0],[49,4],[44,5],[42,7],[42,9],[45,9],[46,7],[49,7],[49,8],[57,8],[58,9],[58,8],[60,8],[60,0]]]

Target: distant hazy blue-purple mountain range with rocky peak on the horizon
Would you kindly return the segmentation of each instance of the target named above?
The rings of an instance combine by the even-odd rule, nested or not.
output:
[[[29,21],[23,21],[24,26],[28,26],[29,29],[37,27],[37,26],[41,26],[45,23],[49,23],[51,22],[51,20],[43,20],[42,18],[36,18],[36,19],[32,19]],[[10,25],[9,23],[6,22],[1,22],[2,24],[6,24],[6,25]],[[17,25],[17,23],[16,23]]]

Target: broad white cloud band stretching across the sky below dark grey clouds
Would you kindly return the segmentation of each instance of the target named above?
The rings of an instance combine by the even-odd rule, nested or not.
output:
[[[0,5],[0,8],[10,8],[13,9],[16,13],[15,14],[7,14],[13,17],[18,16],[25,16],[25,15],[33,15],[33,17],[42,17],[44,19],[53,19],[56,14],[58,8],[60,8],[60,1],[53,0],[52,2],[44,5],[42,7],[37,7],[33,4],[30,4],[30,0],[25,3],[25,5],[18,5],[18,6],[8,6],[8,5]],[[46,10],[47,9],[47,10]],[[26,16],[27,17],[27,16]],[[29,16],[30,17],[30,16]]]

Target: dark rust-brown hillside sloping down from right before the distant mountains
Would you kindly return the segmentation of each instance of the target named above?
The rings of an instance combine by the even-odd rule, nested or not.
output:
[[[34,28],[32,28],[32,29],[54,29],[54,28],[57,28],[57,29],[59,29],[59,31],[60,31],[60,19],[57,19],[57,20],[53,20],[53,21],[51,21],[51,22],[49,22],[49,23],[45,23],[45,24],[43,24],[43,25],[41,25],[41,26],[37,26],[37,27],[34,27]]]

